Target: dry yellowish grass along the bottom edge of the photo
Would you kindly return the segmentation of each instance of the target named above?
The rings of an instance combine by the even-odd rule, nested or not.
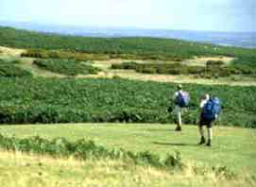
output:
[[[189,186],[254,186],[246,176],[237,179],[217,177],[206,171],[197,175],[195,164],[185,171],[172,173],[152,167],[136,166],[123,161],[77,161],[74,158],[50,158],[20,152],[0,154],[0,182],[7,187],[189,187]]]

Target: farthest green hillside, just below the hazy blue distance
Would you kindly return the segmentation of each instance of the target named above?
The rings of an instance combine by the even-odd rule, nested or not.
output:
[[[199,42],[156,38],[89,38],[0,26],[0,45],[18,48],[61,49],[83,53],[134,55],[145,59],[190,59],[194,56],[229,56],[256,59],[256,49],[223,47]]]

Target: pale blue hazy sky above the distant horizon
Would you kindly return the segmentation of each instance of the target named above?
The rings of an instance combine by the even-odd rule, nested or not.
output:
[[[0,0],[0,21],[256,31],[256,0]]]

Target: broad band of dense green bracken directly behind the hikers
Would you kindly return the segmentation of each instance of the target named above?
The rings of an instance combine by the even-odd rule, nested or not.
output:
[[[0,123],[173,123],[176,84],[126,79],[0,79]],[[256,87],[186,84],[191,105],[182,115],[196,124],[199,98],[217,95],[223,110],[216,125],[256,127]]]

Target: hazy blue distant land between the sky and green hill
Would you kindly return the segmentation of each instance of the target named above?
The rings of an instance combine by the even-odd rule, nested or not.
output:
[[[42,25],[33,23],[1,22],[0,26],[10,26],[19,29],[33,30],[44,33],[56,33],[64,35],[119,38],[119,37],[150,37],[179,39],[190,42],[207,42],[218,45],[231,45],[247,48],[256,48],[256,32],[215,32],[196,30],[167,30],[149,28],[120,28],[120,27],[94,27],[94,26],[64,26]]]

